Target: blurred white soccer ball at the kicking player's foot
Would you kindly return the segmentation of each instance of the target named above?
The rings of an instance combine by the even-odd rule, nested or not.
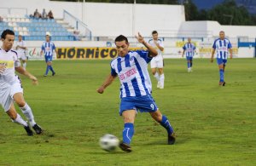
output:
[[[114,135],[103,135],[100,139],[100,146],[105,151],[113,152],[119,146],[119,139]]]

